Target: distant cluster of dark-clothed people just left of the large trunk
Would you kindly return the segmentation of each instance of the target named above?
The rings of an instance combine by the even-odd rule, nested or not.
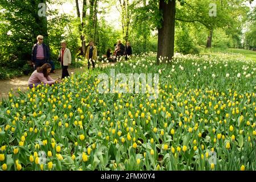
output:
[[[106,52],[106,57],[108,58],[109,61],[115,61],[117,60],[118,57],[125,56],[125,60],[128,59],[129,56],[133,54],[133,51],[131,49],[130,42],[126,43],[126,46],[124,46],[121,43],[121,40],[118,40],[117,44],[114,44],[115,51],[111,53],[111,49],[108,49]]]

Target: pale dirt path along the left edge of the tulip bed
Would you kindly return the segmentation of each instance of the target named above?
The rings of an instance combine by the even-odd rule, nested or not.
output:
[[[112,63],[113,64],[113,63]],[[101,64],[103,66],[107,66],[108,64]],[[82,67],[81,68],[68,68],[68,72],[69,75],[71,75],[71,72],[73,72],[74,74],[77,72],[84,72],[86,69],[86,67]],[[51,73],[50,76],[53,79],[58,78],[59,76],[61,77],[61,69],[57,69],[56,73]],[[28,84],[28,78],[30,76],[22,76],[22,77],[15,77],[11,80],[0,80],[0,101],[2,100],[2,98],[7,98],[9,96],[9,92],[11,90],[11,88],[13,88],[13,93],[18,96],[18,93],[16,93],[16,91],[18,90],[18,88],[20,88],[20,90],[22,92],[27,90]]]

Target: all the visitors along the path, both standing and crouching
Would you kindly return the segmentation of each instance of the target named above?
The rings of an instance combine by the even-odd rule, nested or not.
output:
[[[49,48],[46,46],[46,44],[43,43],[42,35],[38,35],[36,39],[38,40],[38,42],[32,47],[31,60],[32,64],[34,65],[34,72],[28,79],[29,88],[33,88],[34,86],[36,87],[42,83],[44,85],[52,85],[56,82],[61,82],[63,78],[69,76],[68,66],[72,63],[71,51],[69,51],[69,49],[67,48],[67,43],[61,42],[61,49],[59,52],[58,61],[60,62],[62,68],[61,77],[53,80],[49,76],[49,73],[55,73],[55,65],[53,61],[50,60]],[[126,46],[123,46],[121,40],[118,40],[118,44],[115,45],[115,51],[113,52],[113,56],[110,51],[111,50],[108,49],[107,57],[108,59],[113,60],[117,57],[124,55],[125,59],[127,60],[127,56],[132,55],[130,43],[127,42]],[[94,46],[93,41],[89,42],[89,46],[86,49],[85,57],[88,60],[88,69],[90,69],[90,63],[92,63],[94,69],[95,61],[97,59],[97,47]]]

